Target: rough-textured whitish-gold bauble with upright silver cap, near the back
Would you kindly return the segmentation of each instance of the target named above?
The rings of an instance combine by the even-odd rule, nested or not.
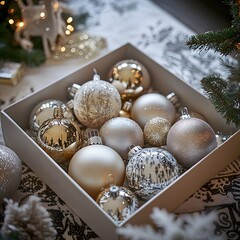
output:
[[[74,96],[74,113],[86,127],[100,128],[107,120],[117,117],[121,110],[117,89],[95,73],[93,80],[83,84]]]

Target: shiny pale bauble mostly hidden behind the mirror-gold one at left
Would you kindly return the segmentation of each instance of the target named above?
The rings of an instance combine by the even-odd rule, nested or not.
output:
[[[30,114],[30,129],[34,132],[37,132],[43,122],[53,117],[53,111],[55,107],[62,108],[65,118],[69,118],[72,121],[74,120],[73,111],[67,104],[60,100],[48,99],[40,102],[33,108]]]

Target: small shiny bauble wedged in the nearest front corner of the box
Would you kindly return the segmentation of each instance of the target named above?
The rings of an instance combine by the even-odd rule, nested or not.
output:
[[[138,209],[136,196],[126,187],[110,186],[97,197],[96,202],[117,223],[131,216]]]

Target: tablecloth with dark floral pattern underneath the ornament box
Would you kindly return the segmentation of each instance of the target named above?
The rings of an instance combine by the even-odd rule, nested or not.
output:
[[[217,54],[211,51],[202,54],[190,51],[185,42],[194,32],[151,1],[72,0],[69,4],[76,13],[80,10],[90,13],[86,26],[78,31],[106,41],[106,47],[92,59],[129,42],[201,93],[202,77],[214,72],[225,74]],[[0,85],[0,108],[46,87],[88,61],[82,57],[61,61],[48,59],[39,67],[26,68],[18,85]],[[4,144],[1,130],[0,144]],[[187,199],[176,212],[214,209],[218,212],[216,233],[226,239],[239,239],[239,192],[240,159],[236,159]],[[39,196],[43,206],[50,212],[57,230],[56,239],[99,239],[80,217],[23,164],[22,181],[12,198],[21,203],[32,194]],[[0,213],[0,223],[2,220],[3,215]]]

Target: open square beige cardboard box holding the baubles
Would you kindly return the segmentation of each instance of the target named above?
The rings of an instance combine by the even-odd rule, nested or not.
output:
[[[135,59],[145,65],[150,73],[154,89],[163,95],[175,92],[184,106],[205,116],[215,131],[225,134],[232,134],[233,131],[235,133],[162,192],[143,204],[132,216],[117,225],[27,135],[25,130],[29,129],[30,113],[39,102],[49,98],[67,102],[69,86],[73,83],[82,84],[91,80],[94,68],[97,69],[101,79],[106,79],[112,65],[124,59]],[[126,44],[90,64],[80,66],[76,72],[7,107],[1,112],[1,119],[6,145],[13,149],[42,181],[58,194],[102,239],[120,239],[116,234],[116,229],[126,224],[151,224],[149,215],[153,207],[174,211],[203,184],[240,155],[240,131],[228,126],[208,99],[130,44]]]

